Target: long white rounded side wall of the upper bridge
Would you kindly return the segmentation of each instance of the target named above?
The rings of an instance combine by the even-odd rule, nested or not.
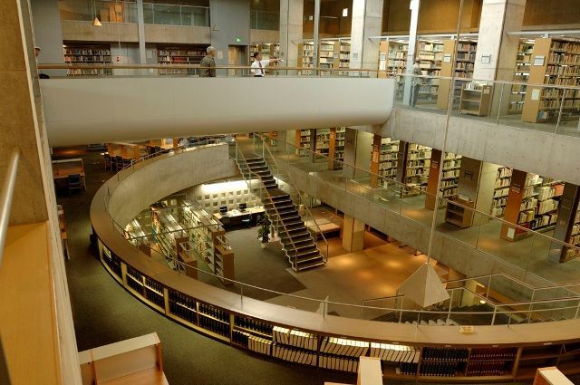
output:
[[[377,125],[394,80],[97,78],[41,81],[51,146],[198,134]]]

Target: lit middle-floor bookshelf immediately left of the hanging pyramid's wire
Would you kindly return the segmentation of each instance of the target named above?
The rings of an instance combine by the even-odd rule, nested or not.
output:
[[[406,185],[403,195],[412,197],[427,190],[431,149],[417,143],[399,142],[397,179]]]

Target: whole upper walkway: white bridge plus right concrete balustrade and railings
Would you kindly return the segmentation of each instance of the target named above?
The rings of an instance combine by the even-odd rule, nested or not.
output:
[[[287,67],[263,79],[220,67],[209,79],[174,67],[41,66],[56,71],[41,82],[50,144],[346,126],[580,184],[577,86]],[[422,91],[433,84],[435,96]],[[537,108],[515,111],[514,97]]]

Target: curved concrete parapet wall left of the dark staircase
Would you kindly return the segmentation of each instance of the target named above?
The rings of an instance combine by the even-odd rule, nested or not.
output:
[[[109,212],[121,226],[162,197],[210,180],[237,175],[237,166],[229,159],[226,144],[190,149],[179,156],[153,159],[143,166],[133,173],[121,175],[124,178],[121,183],[111,188]]]

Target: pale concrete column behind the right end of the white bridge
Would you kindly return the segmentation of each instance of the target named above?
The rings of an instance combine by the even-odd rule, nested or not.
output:
[[[383,0],[353,0],[349,68],[377,69],[380,42],[369,40],[369,37],[381,35],[382,4]],[[353,75],[358,76],[357,73]],[[376,72],[369,75],[376,77]]]

